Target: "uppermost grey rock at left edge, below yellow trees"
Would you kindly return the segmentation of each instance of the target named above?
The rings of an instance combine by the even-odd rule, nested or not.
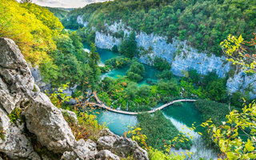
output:
[[[0,38],[0,104],[10,114],[34,89],[34,78],[14,41]]]

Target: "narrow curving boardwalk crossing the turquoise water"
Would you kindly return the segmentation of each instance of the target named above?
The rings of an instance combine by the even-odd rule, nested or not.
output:
[[[175,100],[175,101],[172,101],[172,102],[168,102],[162,106],[159,106],[158,108],[155,108],[154,110],[150,110],[150,111],[145,111],[145,112],[130,112],[130,111],[124,111],[124,110],[115,110],[115,109],[112,109],[110,108],[109,106],[106,106],[99,98],[98,98],[98,95],[97,93],[94,91],[93,92],[93,95],[94,95],[94,98],[96,99],[96,101],[98,103],[95,103],[95,102],[86,102],[86,104],[90,105],[90,106],[98,106],[98,107],[101,107],[103,109],[106,109],[106,110],[110,110],[112,112],[115,112],[115,113],[118,113],[118,114],[128,114],[128,115],[137,115],[137,114],[141,114],[141,113],[150,113],[150,114],[153,114],[154,112],[156,112],[157,110],[162,110],[164,109],[166,106],[170,106],[172,104],[174,104],[175,102],[196,102],[197,100],[195,99],[179,99],[179,100]]]

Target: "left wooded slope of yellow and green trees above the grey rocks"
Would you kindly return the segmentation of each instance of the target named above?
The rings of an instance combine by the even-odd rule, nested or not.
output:
[[[16,42],[32,66],[39,66],[45,82],[59,86],[93,82],[89,54],[78,35],[67,33],[47,8],[33,3],[0,0],[0,37]],[[93,85],[93,84],[92,84]]]

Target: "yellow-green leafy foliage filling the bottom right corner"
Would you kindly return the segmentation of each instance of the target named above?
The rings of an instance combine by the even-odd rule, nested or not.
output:
[[[256,104],[250,103],[242,108],[242,112],[232,110],[226,115],[226,121],[222,125],[205,123],[209,126],[208,133],[212,132],[213,141],[222,151],[225,159],[254,159],[255,152],[255,110]]]

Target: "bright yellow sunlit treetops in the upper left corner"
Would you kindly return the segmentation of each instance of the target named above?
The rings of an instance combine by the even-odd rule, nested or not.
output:
[[[32,65],[56,49],[53,37],[64,27],[49,10],[33,3],[0,0],[0,36],[11,38]]]

